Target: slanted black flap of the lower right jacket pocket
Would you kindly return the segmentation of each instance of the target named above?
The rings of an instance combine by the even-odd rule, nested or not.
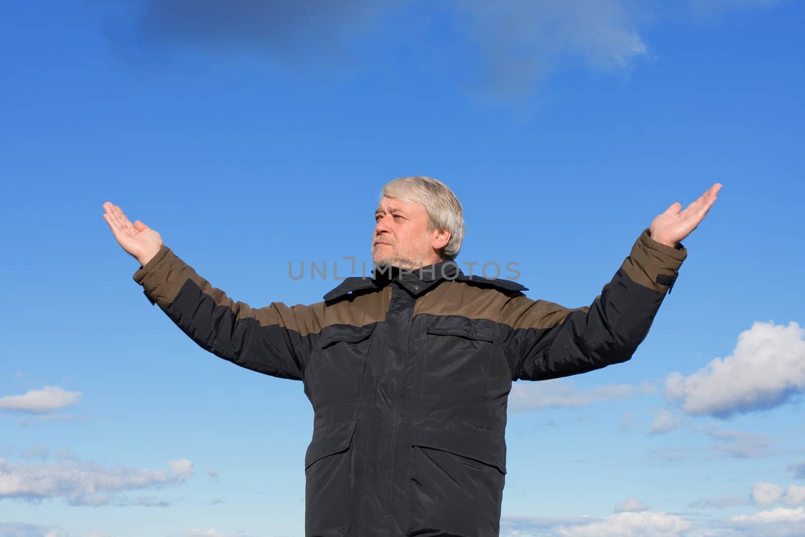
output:
[[[503,433],[461,419],[426,418],[415,422],[411,444],[481,461],[506,473],[506,439]]]

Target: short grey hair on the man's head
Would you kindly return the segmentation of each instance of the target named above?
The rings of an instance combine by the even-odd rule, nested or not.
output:
[[[450,232],[442,258],[456,258],[464,240],[464,217],[458,198],[446,184],[432,177],[399,177],[382,188],[380,198],[383,196],[421,205],[427,213],[428,229],[446,229]]]

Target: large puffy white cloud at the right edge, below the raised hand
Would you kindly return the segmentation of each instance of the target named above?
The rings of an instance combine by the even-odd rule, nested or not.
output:
[[[755,322],[733,353],[687,378],[668,376],[665,394],[691,415],[728,417],[776,407],[805,390],[805,329]]]

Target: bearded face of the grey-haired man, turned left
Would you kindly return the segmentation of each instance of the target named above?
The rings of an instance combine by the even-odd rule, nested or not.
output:
[[[435,249],[447,244],[449,234],[427,229],[427,213],[419,204],[383,196],[374,213],[372,259],[375,265],[416,268],[440,262]]]

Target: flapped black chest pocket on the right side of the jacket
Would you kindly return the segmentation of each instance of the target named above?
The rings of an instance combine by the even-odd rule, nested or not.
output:
[[[490,320],[428,316],[420,393],[485,400],[493,334]]]

